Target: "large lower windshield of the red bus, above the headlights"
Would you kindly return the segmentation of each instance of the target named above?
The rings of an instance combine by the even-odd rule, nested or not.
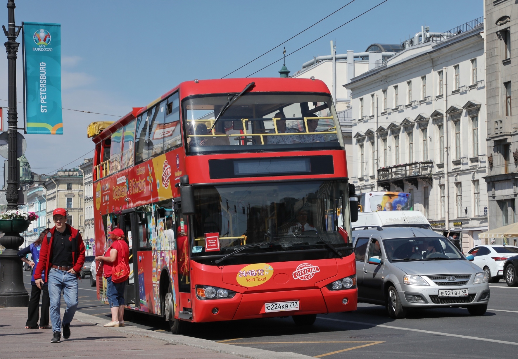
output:
[[[347,183],[301,181],[215,185],[195,190],[193,255],[205,253],[206,234],[219,233],[221,250],[271,242],[290,250],[344,245],[339,227],[344,216]],[[257,247],[257,250],[262,250]]]

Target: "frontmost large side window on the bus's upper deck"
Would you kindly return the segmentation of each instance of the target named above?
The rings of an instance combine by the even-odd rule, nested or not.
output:
[[[136,163],[182,145],[178,92],[142,113],[137,119]]]

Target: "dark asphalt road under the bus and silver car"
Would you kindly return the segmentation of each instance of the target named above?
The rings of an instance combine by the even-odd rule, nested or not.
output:
[[[24,272],[30,291],[29,272]],[[482,317],[467,309],[427,309],[393,320],[385,308],[360,304],[348,313],[319,315],[311,327],[297,327],[291,318],[272,318],[193,326],[187,335],[236,346],[291,351],[315,357],[349,358],[511,358],[518,350],[518,288],[503,281],[490,284],[489,308]],[[63,301],[62,301],[63,303]],[[79,283],[79,310],[110,318],[107,305],[96,299],[89,278]],[[135,315],[131,323],[167,332],[161,318]]]

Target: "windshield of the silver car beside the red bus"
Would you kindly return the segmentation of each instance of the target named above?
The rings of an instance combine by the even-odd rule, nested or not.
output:
[[[464,256],[444,237],[384,239],[389,261],[463,260]]]

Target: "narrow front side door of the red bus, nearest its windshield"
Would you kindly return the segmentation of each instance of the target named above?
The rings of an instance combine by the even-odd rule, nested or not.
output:
[[[179,318],[192,319],[192,298],[191,298],[191,271],[189,264],[190,245],[187,217],[182,214],[180,203],[175,203],[175,218],[177,229],[177,256],[178,256],[178,304]]]

